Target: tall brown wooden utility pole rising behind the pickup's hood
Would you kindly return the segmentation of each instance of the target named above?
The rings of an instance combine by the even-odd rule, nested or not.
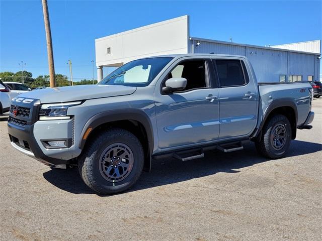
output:
[[[56,87],[56,81],[55,81],[54,56],[52,52],[48,6],[47,6],[47,0],[41,0],[41,2],[42,2],[42,10],[44,13],[44,22],[45,22],[45,31],[46,31],[46,40],[47,40],[50,87],[52,88],[52,87]]]

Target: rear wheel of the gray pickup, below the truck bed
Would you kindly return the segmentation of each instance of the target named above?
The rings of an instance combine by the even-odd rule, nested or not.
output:
[[[263,128],[256,149],[267,158],[277,159],[285,156],[291,143],[291,125],[285,115],[277,114],[270,118]]]

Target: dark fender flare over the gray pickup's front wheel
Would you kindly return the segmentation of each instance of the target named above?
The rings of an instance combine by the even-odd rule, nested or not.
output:
[[[147,171],[150,171],[151,155],[153,152],[153,144],[154,144],[153,129],[152,129],[152,124],[150,122],[150,118],[142,110],[130,109],[130,108],[120,109],[120,110],[109,110],[109,111],[104,111],[96,115],[93,115],[83,127],[83,130],[81,132],[81,140],[79,140],[78,147],[79,149],[83,150],[86,143],[86,140],[83,140],[83,137],[89,127],[95,130],[98,126],[102,124],[115,122],[115,121],[125,121],[125,120],[137,121],[140,124],[142,124],[145,129],[147,142],[148,142],[147,145],[148,145],[149,156],[146,156],[145,162],[146,161],[148,162],[144,164],[144,169]]]

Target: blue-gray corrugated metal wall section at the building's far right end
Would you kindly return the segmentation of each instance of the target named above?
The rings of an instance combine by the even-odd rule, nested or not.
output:
[[[289,61],[289,75],[302,75],[302,80],[307,80],[308,75],[317,74],[314,73],[314,59],[315,55],[309,54],[300,54],[290,52],[290,61]]]

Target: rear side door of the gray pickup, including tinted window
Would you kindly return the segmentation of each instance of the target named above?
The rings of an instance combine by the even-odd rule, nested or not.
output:
[[[213,59],[219,81],[219,139],[248,136],[258,116],[258,88],[243,59]]]

